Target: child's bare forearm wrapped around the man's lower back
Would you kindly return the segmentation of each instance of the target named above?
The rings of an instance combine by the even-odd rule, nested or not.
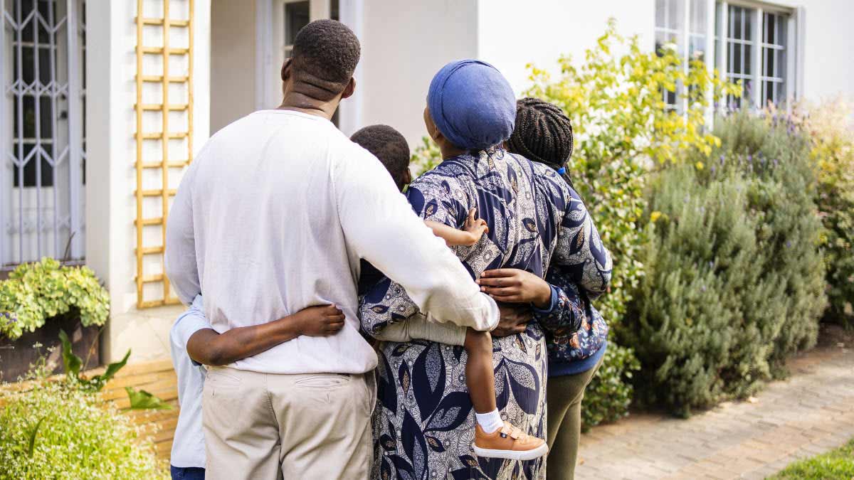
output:
[[[335,335],[343,326],[344,314],[335,305],[307,307],[282,319],[233,328],[221,334],[211,328],[196,331],[187,341],[187,353],[204,365],[228,365],[301,335]]]

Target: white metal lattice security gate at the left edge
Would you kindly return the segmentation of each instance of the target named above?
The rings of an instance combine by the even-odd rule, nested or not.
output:
[[[85,2],[0,0],[0,269],[84,258]]]

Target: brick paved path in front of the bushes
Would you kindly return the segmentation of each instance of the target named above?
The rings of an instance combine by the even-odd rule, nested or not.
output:
[[[632,415],[582,436],[576,478],[764,478],[854,437],[854,349],[822,348],[789,363],[791,378],[755,401],[690,419]]]

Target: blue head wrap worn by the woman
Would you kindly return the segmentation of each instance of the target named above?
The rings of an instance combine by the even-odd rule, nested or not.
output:
[[[516,97],[503,75],[478,60],[452,61],[430,82],[427,106],[433,122],[461,149],[480,150],[510,138]]]

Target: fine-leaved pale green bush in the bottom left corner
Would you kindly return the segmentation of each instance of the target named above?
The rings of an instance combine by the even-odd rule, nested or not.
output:
[[[0,393],[0,480],[167,478],[132,420],[67,381]]]

